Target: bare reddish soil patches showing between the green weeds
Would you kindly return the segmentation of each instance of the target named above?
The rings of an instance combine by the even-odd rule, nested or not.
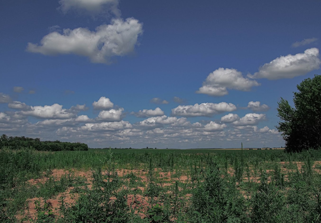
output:
[[[292,162],[293,164],[295,164],[297,166],[297,168],[295,169],[288,169],[289,167],[289,162],[280,162],[281,165],[281,172],[284,174],[284,178],[285,181],[288,180],[288,173],[290,172],[294,172],[297,171],[297,169],[299,171],[302,170],[302,166],[304,165],[304,163],[302,162]],[[319,168],[317,168],[317,165],[321,165],[321,161],[316,161],[313,164],[313,170],[315,171],[315,173],[317,174],[321,174],[321,168],[319,166]],[[266,170],[266,173],[272,173],[274,170]],[[233,168],[229,168],[228,169],[228,174],[230,176],[233,176],[234,173],[234,169]],[[128,176],[130,177],[130,175],[128,174],[134,174],[136,177],[139,177],[139,180],[136,180],[136,182],[138,183],[138,181],[142,182],[144,184],[144,186],[137,186],[137,187],[131,187],[128,188],[126,185],[123,185],[121,187],[121,189],[125,189],[128,190],[129,193],[135,193],[134,194],[129,194],[127,197],[127,204],[128,206],[130,206],[132,208],[132,211],[134,211],[135,213],[138,213],[142,218],[146,217],[142,212],[145,212],[148,208],[150,208],[150,197],[146,197],[144,196],[144,192],[146,190],[146,188],[148,187],[148,171],[146,170],[129,170],[129,169],[122,169],[122,170],[116,170],[116,173],[118,174],[119,177],[124,177],[124,176]],[[46,173],[44,173],[45,175]],[[92,178],[91,178],[91,171],[78,171],[76,169],[70,169],[70,170],[64,170],[64,169],[54,169],[51,171],[50,176],[47,177],[42,177],[39,179],[31,179],[28,181],[28,183],[30,183],[30,185],[39,185],[39,184],[44,184],[49,178],[53,178],[55,181],[56,180],[60,180],[61,177],[68,177],[70,175],[70,177],[76,178],[76,177],[82,177],[85,180],[85,183],[87,183],[87,187],[91,190],[91,186],[92,186]],[[103,172],[102,174],[106,174],[106,172]],[[160,168],[155,168],[154,169],[154,174],[155,177],[157,179],[157,182],[155,182],[155,184],[161,186],[161,187],[170,187],[172,185],[175,184],[176,181],[179,181],[181,183],[186,183],[190,180],[190,177],[187,175],[181,175],[179,177],[171,177],[172,174],[176,174],[175,171],[173,172],[162,172],[162,170]],[[248,179],[248,176],[246,174],[244,174],[244,178],[243,181],[244,182],[248,182],[249,180],[254,182],[254,183],[260,183],[259,180],[259,172],[257,172],[257,176],[254,177],[254,171],[253,169],[250,170],[250,177]],[[222,175],[222,177],[224,177],[224,175]],[[123,178],[123,180],[125,180],[126,182],[129,182],[130,178]],[[271,177],[269,177],[268,182],[271,181]],[[69,187],[65,192],[63,193],[59,193],[54,199],[48,199],[47,203],[50,205],[50,207],[52,208],[52,211],[54,212],[55,215],[60,216],[60,213],[58,212],[59,210],[59,198],[61,196],[65,197],[65,202],[70,205],[72,205],[73,203],[75,203],[78,200],[79,195],[77,193],[73,193],[72,190],[74,189],[74,187]],[[138,190],[136,190],[138,189]],[[182,188],[179,187],[179,190],[181,191]],[[136,193],[137,192],[137,193]],[[168,191],[168,194],[171,194],[172,191]],[[251,196],[249,194],[247,194],[244,191],[240,191],[240,193],[242,194],[242,196],[244,196],[244,198],[249,199],[251,198]],[[192,195],[191,194],[186,194],[185,195],[185,199],[189,199]],[[115,199],[115,198],[111,198]],[[157,200],[157,198],[152,198],[155,200]],[[16,217],[18,219],[22,219],[25,216],[28,216],[29,219],[35,219],[36,217],[36,213],[37,211],[35,210],[35,201],[40,201],[41,205],[44,204],[44,199],[39,197],[39,198],[32,198],[29,199],[27,208],[25,210],[22,211],[22,213],[19,213]],[[153,203],[155,203],[153,202]]]

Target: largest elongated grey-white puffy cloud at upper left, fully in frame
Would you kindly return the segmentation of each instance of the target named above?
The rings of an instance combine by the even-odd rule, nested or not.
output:
[[[109,63],[114,56],[134,51],[143,24],[134,18],[113,19],[109,25],[100,25],[95,31],[87,28],[64,29],[51,32],[40,44],[28,43],[27,50],[44,55],[76,54],[90,58],[93,63]]]

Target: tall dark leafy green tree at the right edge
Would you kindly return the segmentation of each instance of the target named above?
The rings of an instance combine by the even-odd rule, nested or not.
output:
[[[276,128],[282,132],[287,151],[302,151],[321,146],[321,76],[305,79],[293,92],[292,108],[281,98],[278,117],[282,121]]]

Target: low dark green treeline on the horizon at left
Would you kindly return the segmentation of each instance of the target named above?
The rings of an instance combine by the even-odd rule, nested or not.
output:
[[[40,138],[8,137],[5,134],[0,136],[0,148],[3,147],[9,149],[30,148],[38,151],[88,150],[88,145],[80,142],[40,141]]]

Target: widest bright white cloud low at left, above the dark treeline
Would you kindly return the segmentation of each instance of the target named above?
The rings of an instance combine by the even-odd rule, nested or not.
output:
[[[45,119],[69,119],[75,116],[74,112],[63,109],[62,105],[57,103],[45,106],[30,106],[30,109],[30,111],[21,111],[20,113]]]

